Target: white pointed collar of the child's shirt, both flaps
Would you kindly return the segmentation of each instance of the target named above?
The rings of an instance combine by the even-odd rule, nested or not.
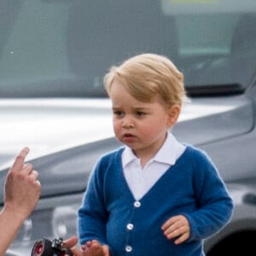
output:
[[[173,166],[178,156],[180,155],[178,152],[183,150],[183,148],[183,144],[178,143],[176,137],[174,137],[169,131],[167,133],[165,143],[162,145],[157,154],[154,155],[154,158],[150,161],[157,161]],[[137,156],[133,154],[131,148],[125,147],[125,150],[122,154],[123,167],[129,165],[134,160],[138,160]]]

